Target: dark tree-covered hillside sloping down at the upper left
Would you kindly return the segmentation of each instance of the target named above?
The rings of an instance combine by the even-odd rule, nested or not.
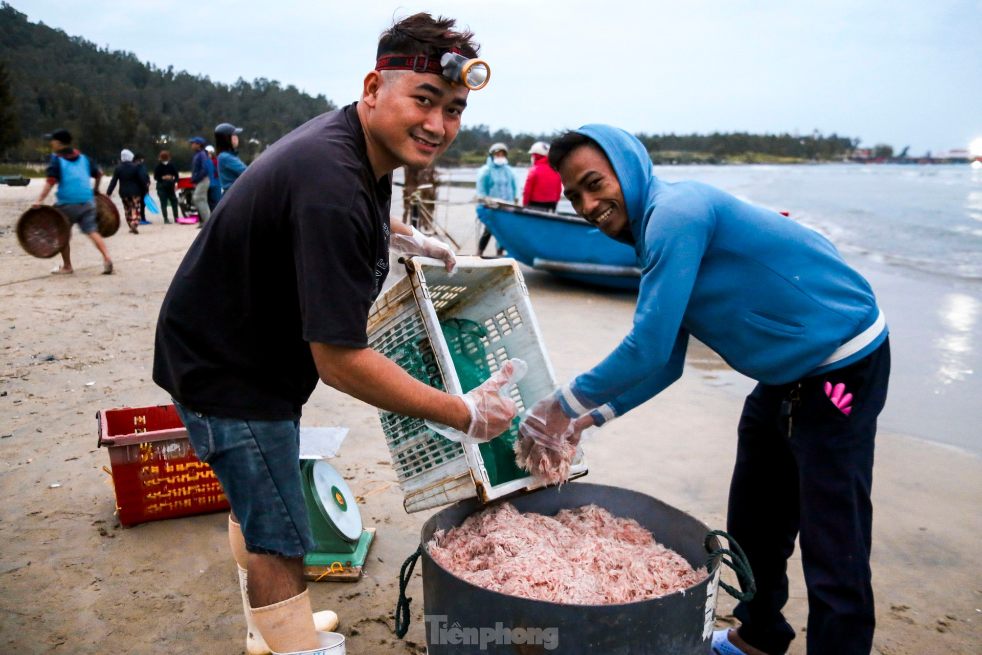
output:
[[[0,63],[0,156],[19,161],[46,158],[41,135],[66,128],[102,164],[117,161],[127,147],[151,161],[167,149],[187,167],[188,138],[210,141],[215,126],[226,121],[245,129],[241,150],[249,160],[335,108],[324,95],[280,82],[223,84],[161,69],[133,53],[29,23],[6,2],[0,4]]]

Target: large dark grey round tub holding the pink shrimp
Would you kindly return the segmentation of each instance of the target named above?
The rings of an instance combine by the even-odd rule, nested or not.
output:
[[[635,519],[693,568],[706,565],[709,527],[645,494],[601,484],[572,482],[511,499],[520,512],[554,516],[595,504]],[[474,499],[433,515],[422,528],[423,607],[430,655],[548,653],[564,655],[705,655],[709,652],[720,575],[682,591],[617,605],[567,605],[484,589],[430,558],[425,544],[436,530],[457,527],[482,509]],[[709,541],[716,549],[716,537]]]

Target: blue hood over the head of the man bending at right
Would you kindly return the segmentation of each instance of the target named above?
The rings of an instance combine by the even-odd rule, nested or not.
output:
[[[591,123],[574,132],[595,140],[614,167],[621,183],[621,191],[624,192],[627,220],[630,221],[630,233],[637,249],[637,245],[642,242],[641,235],[644,234],[652,191],[658,182],[651,165],[651,156],[641,141],[621,128]]]

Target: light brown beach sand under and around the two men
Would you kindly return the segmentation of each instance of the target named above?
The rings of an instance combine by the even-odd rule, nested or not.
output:
[[[57,259],[29,257],[14,233],[38,184],[0,187],[0,436],[10,435],[0,439],[0,652],[242,653],[227,515],[121,528],[102,469],[109,458],[96,448],[96,410],[168,402],[150,379],[154,325],[197,230],[151,216],[155,224],[138,236],[121,231],[108,241],[113,276],[99,274],[95,248],[77,233],[76,274],[52,277]],[[460,233],[472,235],[463,215]],[[561,379],[596,363],[629,329],[629,294],[534,271],[526,282]],[[736,421],[750,387],[693,345],[682,380],[585,444],[586,479],[725,527]],[[425,652],[418,568],[406,640],[395,638],[392,614],[400,566],[430,513],[403,511],[378,414],[321,385],[303,422],[351,428],[332,464],[364,496],[366,526],[378,529],[364,578],[311,583],[314,609],[338,612],[353,655]],[[875,652],[982,652],[982,462],[881,430],[874,479]],[[787,616],[798,638],[789,652],[800,655],[807,604],[797,553],[790,576]],[[721,598],[724,627],[734,603]]]

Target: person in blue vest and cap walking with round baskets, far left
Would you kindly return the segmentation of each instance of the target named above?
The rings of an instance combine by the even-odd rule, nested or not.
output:
[[[98,219],[95,209],[95,193],[99,191],[102,171],[95,162],[72,147],[72,135],[68,130],[55,130],[44,138],[51,142],[51,160],[45,172],[47,180],[41,194],[37,196],[33,206],[44,203],[48,193],[57,186],[55,191],[55,207],[60,209],[73,225],[78,225],[82,234],[92,240],[102,254],[102,272],[110,275],[113,272],[113,260],[109,257],[106,242],[99,234]],[[92,188],[90,179],[95,179]],[[66,275],[75,272],[72,268],[71,244],[62,249],[62,264],[51,272],[55,275]]]

